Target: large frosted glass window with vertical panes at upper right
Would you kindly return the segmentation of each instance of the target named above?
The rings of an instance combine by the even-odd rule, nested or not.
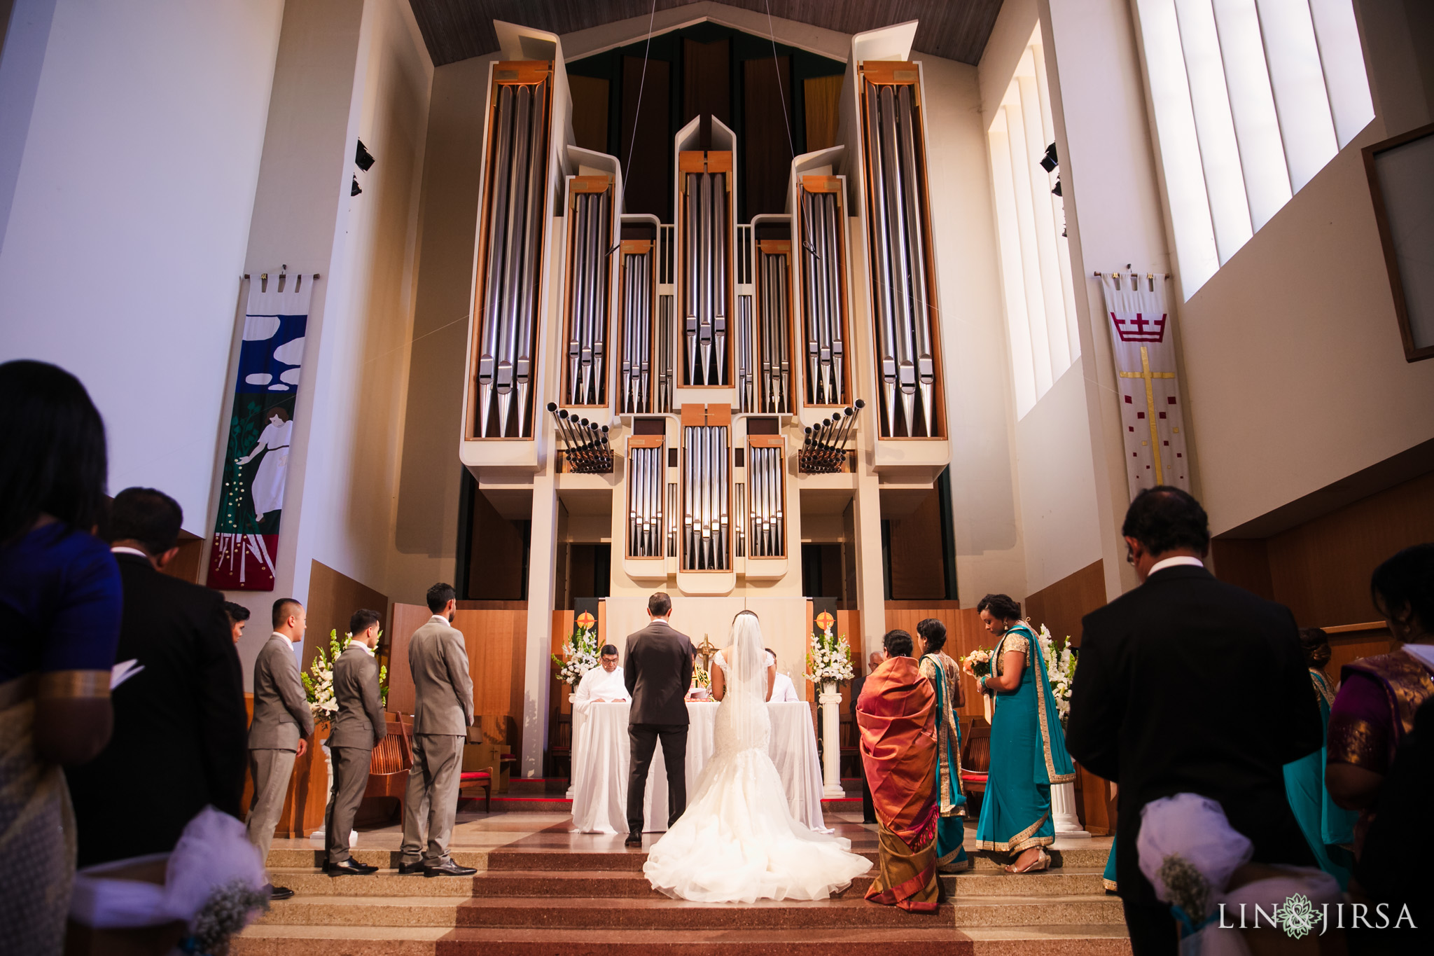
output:
[[[1374,119],[1351,0],[1136,0],[1193,295]]]

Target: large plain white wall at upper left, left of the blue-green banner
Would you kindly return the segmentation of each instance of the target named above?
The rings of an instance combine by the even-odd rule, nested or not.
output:
[[[0,70],[0,360],[79,376],[110,492],[159,487],[201,536],[282,9],[22,0]]]

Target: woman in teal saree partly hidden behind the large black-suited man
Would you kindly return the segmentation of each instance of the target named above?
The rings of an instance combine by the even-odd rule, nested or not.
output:
[[[1309,682],[1319,704],[1319,721],[1329,735],[1329,708],[1335,702],[1335,687],[1325,675],[1329,664],[1329,636],[1319,628],[1301,628],[1299,646],[1305,652],[1309,668]],[[1325,760],[1328,747],[1285,764],[1285,794],[1289,808],[1295,811],[1305,843],[1315,853],[1319,869],[1339,880],[1339,889],[1348,889],[1349,870],[1354,866],[1354,821],[1359,816],[1354,810],[1339,808],[1325,790]]]

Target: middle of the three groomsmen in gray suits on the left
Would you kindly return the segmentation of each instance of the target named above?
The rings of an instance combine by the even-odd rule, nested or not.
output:
[[[377,645],[379,612],[354,611],[348,618],[348,646],[334,661],[334,701],[338,704],[338,714],[328,735],[334,790],[324,814],[324,870],[328,876],[367,876],[379,870],[348,856],[348,833],[369,785],[373,748],[387,734],[379,695],[379,662],[373,656]]]

